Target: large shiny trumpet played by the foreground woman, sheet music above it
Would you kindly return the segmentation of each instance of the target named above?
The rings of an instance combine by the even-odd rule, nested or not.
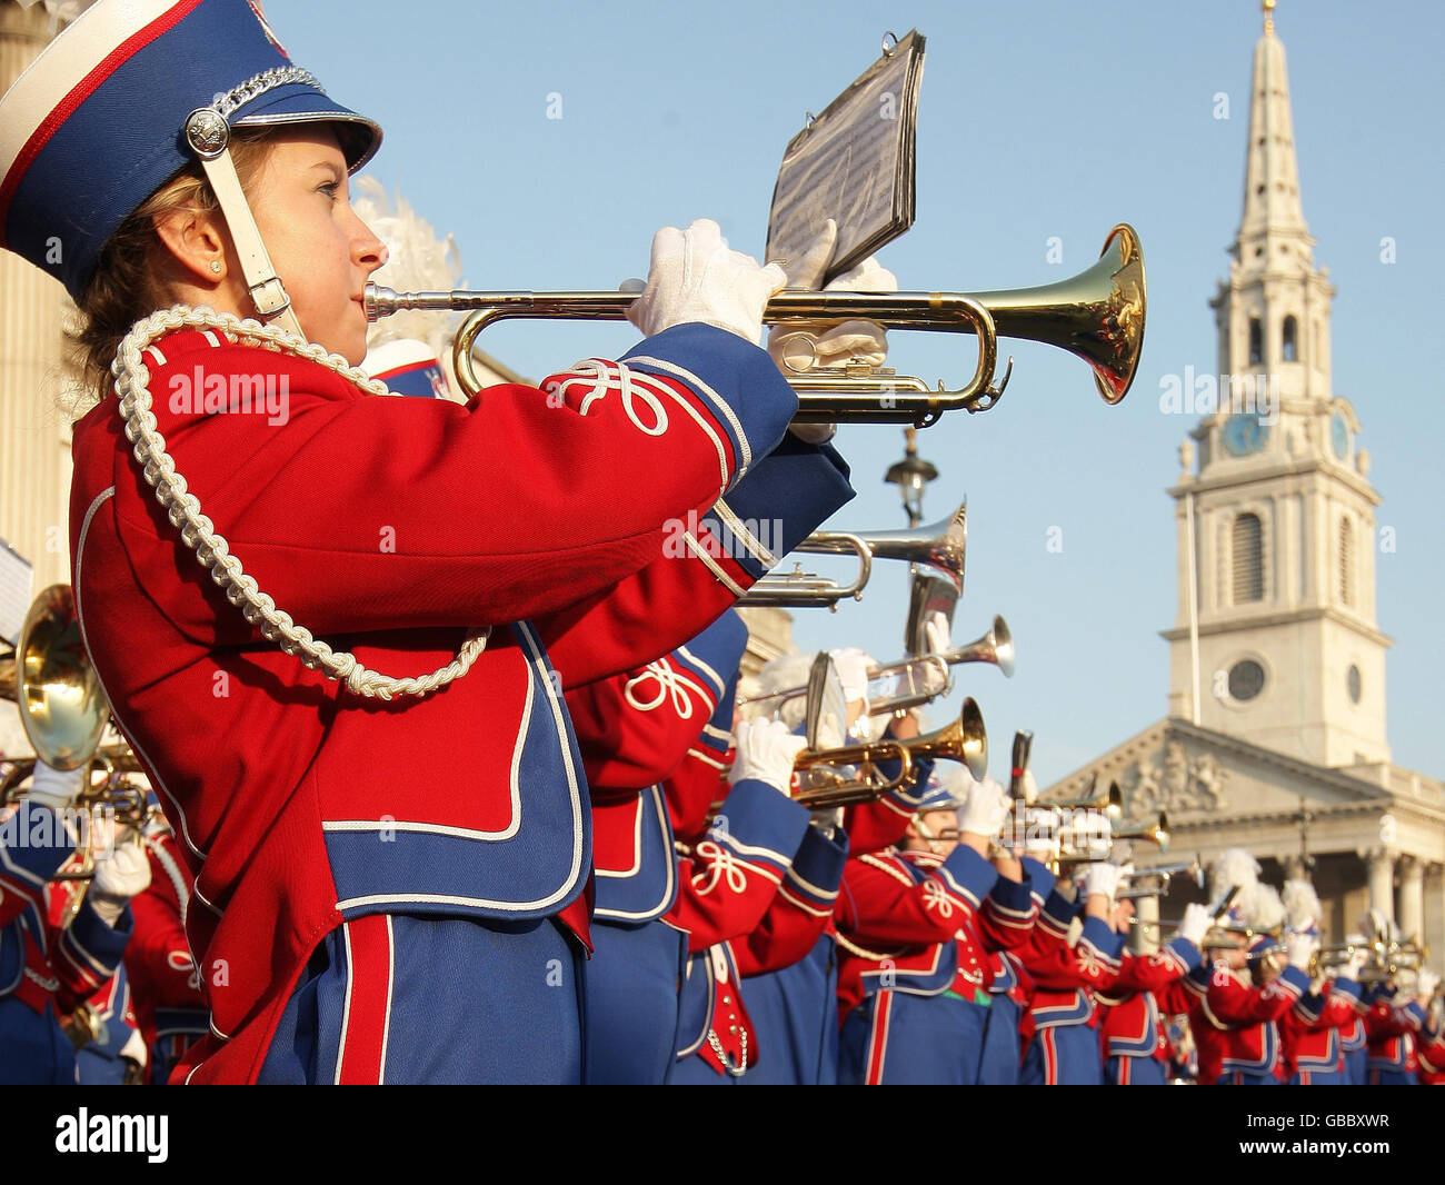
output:
[[[457,379],[467,397],[483,384],[473,364],[478,334],[497,321],[623,321],[631,292],[393,292],[367,285],[367,318],[403,309],[467,312],[452,342]],[[806,335],[815,322],[861,318],[886,329],[962,332],[978,338],[972,377],[957,390],[939,382],[899,376],[892,367],[861,363],[814,367],[789,376],[799,393],[799,422],[912,423],[926,428],[948,410],[970,413],[996,406],[1009,384],[1009,369],[996,382],[998,335],[1042,341],[1088,363],[1105,403],[1118,403],[1139,369],[1144,338],[1144,257],[1139,234],[1126,223],[1104,241],[1098,263],[1068,280],[1040,288],[981,292],[871,293],[780,292],[767,302],[767,324]]]

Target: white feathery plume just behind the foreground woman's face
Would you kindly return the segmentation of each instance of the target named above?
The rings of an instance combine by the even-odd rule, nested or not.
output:
[[[374,283],[397,292],[451,292],[461,288],[461,256],[452,236],[442,238],[412,204],[396,194],[389,198],[386,186],[374,176],[353,181],[358,191],[351,208],[387,246],[386,263],[373,273]],[[367,345],[380,345],[397,338],[425,341],[444,361],[451,354],[451,340],[461,314],[436,314],[409,309],[383,316],[366,331]]]

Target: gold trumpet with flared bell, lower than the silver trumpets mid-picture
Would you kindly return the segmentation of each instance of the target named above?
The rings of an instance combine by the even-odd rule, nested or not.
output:
[[[965,699],[958,720],[920,737],[803,750],[793,767],[814,770],[814,785],[805,786],[793,798],[809,809],[870,802],[905,786],[913,773],[916,757],[962,762],[974,777],[983,777],[988,769],[988,734],[978,704],[972,698]],[[899,773],[893,777],[879,769],[879,763],[887,760],[899,762]],[[857,769],[845,773],[837,766]]]

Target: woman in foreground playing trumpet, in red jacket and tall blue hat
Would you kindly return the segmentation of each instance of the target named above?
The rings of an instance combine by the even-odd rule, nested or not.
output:
[[[670,558],[669,522],[790,475],[806,533],[851,494],[818,452],[762,473],[796,410],[759,348],[785,276],[712,223],[655,238],[624,360],[381,397],[386,249],[348,201],[379,143],[247,0],[100,0],[0,100],[4,246],[104,380],[74,431],[85,642],[194,879],[212,1019],[175,1081],[577,1081],[559,685],[666,653],[772,559],[746,530]]]

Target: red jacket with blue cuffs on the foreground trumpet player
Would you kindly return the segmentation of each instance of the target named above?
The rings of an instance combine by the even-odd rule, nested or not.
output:
[[[298,624],[389,675],[493,627],[441,692],[353,697],[225,600],[113,396],[75,426],[85,642],[194,882],[212,1035],[191,1080],[250,1081],[347,918],[562,915],[585,935],[587,790],[558,681],[666,653],[756,579],[764,564],[721,553],[699,516],[743,491],[796,405],[763,351],[704,325],[555,376],[549,396],[509,384],[467,406],[367,396],[214,332],[144,361],[178,473]],[[285,392],[283,415],[236,402],[257,383]]]

